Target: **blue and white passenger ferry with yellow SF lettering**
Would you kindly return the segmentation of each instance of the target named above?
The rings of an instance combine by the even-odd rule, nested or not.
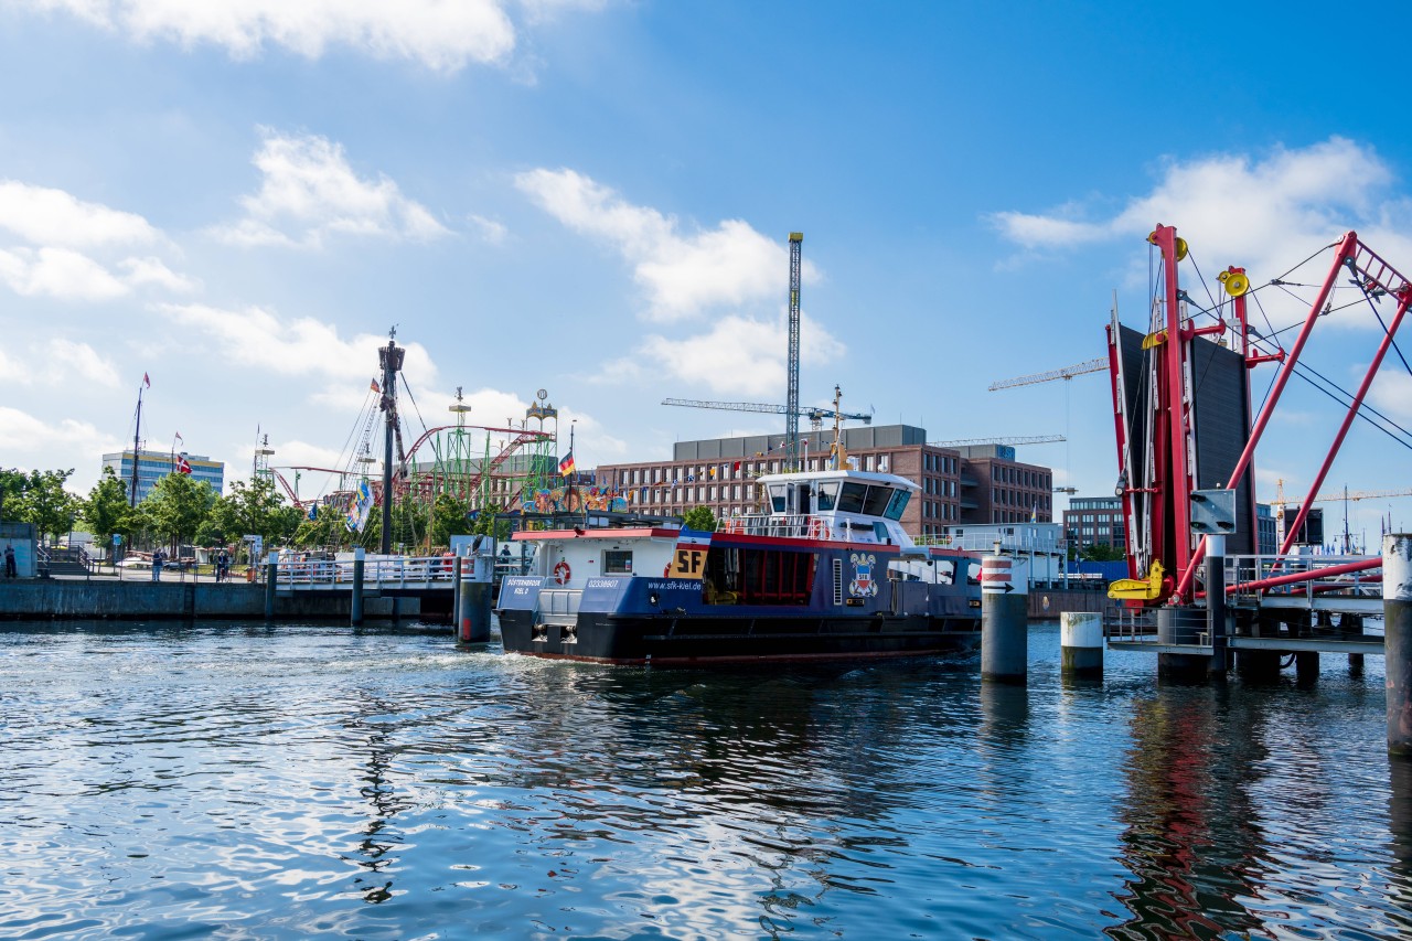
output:
[[[716,533],[666,527],[517,533],[531,571],[505,576],[508,653],[617,664],[853,660],[980,643],[980,558],[916,545],[919,487],[890,473],[761,476],[770,513]]]

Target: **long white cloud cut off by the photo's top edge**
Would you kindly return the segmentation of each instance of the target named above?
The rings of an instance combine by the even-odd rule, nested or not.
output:
[[[503,0],[28,0],[147,42],[209,42],[239,59],[267,45],[316,59],[342,45],[436,72],[501,64],[515,48]],[[534,4],[542,6],[542,4]],[[561,6],[561,4],[556,4]]]

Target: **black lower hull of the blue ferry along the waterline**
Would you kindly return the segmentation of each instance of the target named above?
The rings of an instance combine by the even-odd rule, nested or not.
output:
[[[535,625],[503,610],[507,653],[611,664],[690,667],[771,661],[868,660],[974,650],[980,623],[928,617],[672,617],[580,613],[572,625]]]

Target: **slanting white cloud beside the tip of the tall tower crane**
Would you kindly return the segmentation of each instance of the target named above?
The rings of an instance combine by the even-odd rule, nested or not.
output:
[[[788,247],[740,219],[682,235],[675,218],[634,206],[572,170],[522,172],[515,187],[570,229],[611,243],[647,291],[652,319],[679,319],[785,291]],[[802,274],[812,280],[815,268],[805,263]]]

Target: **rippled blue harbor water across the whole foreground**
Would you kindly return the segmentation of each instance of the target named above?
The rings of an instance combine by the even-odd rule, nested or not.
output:
[[[1380,938],[1382,663],[1028,690],[648,671],[343,627],[0,630],[0,935]]]

